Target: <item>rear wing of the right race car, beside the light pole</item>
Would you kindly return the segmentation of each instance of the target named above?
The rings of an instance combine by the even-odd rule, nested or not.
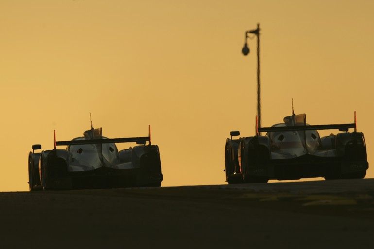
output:
[[[332,130],[338,129],[342,132],[348,132],[349,128],[354,128],[357,131],[356,112],[354,114],[354,122],[351,124],[328,124],[328,125],[296,125],[296,126],[283,126],[283,127],[258,127],[256,117],[256,132],[287,132],[287,131],[307,131],[307,130]]]

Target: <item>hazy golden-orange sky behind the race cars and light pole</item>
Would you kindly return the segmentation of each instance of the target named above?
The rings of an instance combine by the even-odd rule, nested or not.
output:
[[[261,24],[262,121],[357,111],[374,177],[374,2],[1,0],[0,190],[27,190],[27,154],[95,127],[160,146],[163,186],[224,183],[230,130],[254,134]],[[129,145],[121,146],[121,148]]]

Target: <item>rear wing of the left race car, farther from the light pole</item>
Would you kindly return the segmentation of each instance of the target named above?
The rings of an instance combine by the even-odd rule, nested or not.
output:
[[[56,141],[56,131],[54,131],[54,149],[60,145],[81,145],[81,144],[110,144],[110,143],[131,143],[151,145],[151,126],[148,126],[148,136],[141,137],[123,137],[123,138],[106,138],[106,139],[87,139],[87,140],[70,140]]]

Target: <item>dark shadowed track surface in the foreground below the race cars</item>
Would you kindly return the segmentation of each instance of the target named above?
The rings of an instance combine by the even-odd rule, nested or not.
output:
[[[374,248],[374,179],[0,193],[0,248]]]

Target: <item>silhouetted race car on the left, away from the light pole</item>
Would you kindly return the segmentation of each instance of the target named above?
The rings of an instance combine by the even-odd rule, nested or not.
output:
[[[102,128],[91,129],[83,137],[56,141],[54,149],[29,153],[29,187],[36,189],[116,188],[161,186],[160,153],[147,137],[113,138],[102,136]],[[118,151],[115,143],[138,145]],[[148,142],[148,145],[146,145]],[[56,146],[67,146],[56,149]]]

